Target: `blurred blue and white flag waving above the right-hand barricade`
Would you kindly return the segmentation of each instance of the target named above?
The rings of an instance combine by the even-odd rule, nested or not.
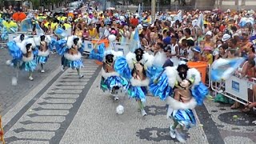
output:
[[[211,66],[211,80],[218,82],[230,78],[242,62],[245,62],[244,58],[219,58]]]

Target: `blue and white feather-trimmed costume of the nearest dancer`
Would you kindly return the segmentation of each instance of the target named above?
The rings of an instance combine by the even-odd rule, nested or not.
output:
[[[175,89],[174,86],[178,85],[177,77],[178,72],[175,72],[175,67],[167,67],[162,73],[156,74],[152,81],[150,81],[150,92],[164,100],[168,104],[167,116],[174,118],[180,125],[185,126],[189,129],[191,126],[196,124],[194,118],[193,109],[196,105],[202,105],[204,98],[208,94],[208,88],[202,83],[200,78],[200,73],[198,70],[190,69],[188,70],[187,79],[195,77],[196,82],[193,81],[193,88],[191,88],[192,99],[190,102],[183,103],[175,100],[173,98]],[[197,76],[194,76],[197,75]]]

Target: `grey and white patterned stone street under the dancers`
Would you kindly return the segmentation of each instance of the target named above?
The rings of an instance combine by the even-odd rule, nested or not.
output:
[[[11,86],[14,70],[5,65],[8,51],[1,50],[0,105],[6,143],[92,144],[92,143],[179,143],[170,138],[172,120],[166,118],[166,102],[150,95],[147,115],[137,103],[120,94],[114,102],[99,88],[100,70],[94,60],[83,58],[79,79],[75,70],[61,70],[60,57],[50,54],[46,73],[34,72],[34,81],[20,73]],[[124,114],[116,107],[124,106]],[[187,143],[255,143],[255,115],[230,110],[230,105],[206,99],[194,110],[197,125],[186,132]],[[234,115],[236,116],[234,118]]]

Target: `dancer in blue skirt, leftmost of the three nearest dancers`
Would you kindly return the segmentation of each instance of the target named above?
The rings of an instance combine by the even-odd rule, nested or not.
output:
[[[129,86],[129,82],[126,78],[122,78],[120,74],[118,74],[114,70],[114,62],[116,58],[122,56],[122,52],[115,52],[114,50],[108,50],[105,53],[105,58],[103,59],[103,67],[102,67],[102,81],[101,81],[101,89],[103,91],[110,90],[111,97],[117,101],[118,98],[118,90],[124,89]]]

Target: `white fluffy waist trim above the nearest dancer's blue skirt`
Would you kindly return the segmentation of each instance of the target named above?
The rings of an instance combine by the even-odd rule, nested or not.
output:
[[[174,98],[167,97],[166,102],[169,105],[169,107],[173,110],[186,110],[186,109],[194,109],[195,106],[197,106],[197,102],[194,98],[190,100],[190,102],[179,102]]]

